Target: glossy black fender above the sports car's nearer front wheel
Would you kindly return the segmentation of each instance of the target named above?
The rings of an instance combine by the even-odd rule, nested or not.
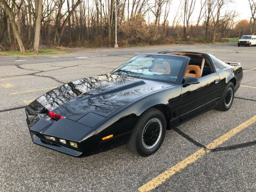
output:
[[[140,115],[146,110],[159,105],[166,106],[167,108],[170,108],[170,110],[176,109],[180,106],[180,98],[180,85],[174,85],[172,87],[167,87],[144,95],[108,116],[104,121],[100,122],[97,127],[95,127],[95,131],[99,134],[99,138],[107,136],[101,133],[115,134],[115,130],[118,131],[118,134],[132,131]],[[116,128],[117,124],[118,128]]]

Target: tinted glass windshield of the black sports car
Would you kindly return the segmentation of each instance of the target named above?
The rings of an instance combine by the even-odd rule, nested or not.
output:
[[[185,57],[173,55],[137,55],[113,71],[113,74],[176,83]]]

